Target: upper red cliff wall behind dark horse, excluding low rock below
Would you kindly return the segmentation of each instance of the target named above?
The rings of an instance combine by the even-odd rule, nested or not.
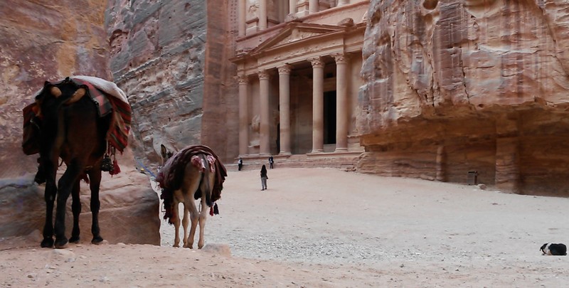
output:
[[[102,23],[107,0],[0,2],[0,177],[35,172],[21,151],[23,107],[46,80],[110,78]]]

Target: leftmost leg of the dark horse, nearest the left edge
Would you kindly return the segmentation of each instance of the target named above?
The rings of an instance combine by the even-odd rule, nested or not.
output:
[[[46,171],[46,190],[43,192],[43,198],[46,201],[46,223],[43,225],[43,240],[41,247],[53,247],[53,203],[58,192],[55,186],[55,167],[51,162],[44,162]]]

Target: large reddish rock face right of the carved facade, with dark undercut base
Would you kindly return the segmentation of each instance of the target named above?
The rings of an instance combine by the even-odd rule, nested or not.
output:
[[[359,171],[569,196],[568,8],[371,1]]]

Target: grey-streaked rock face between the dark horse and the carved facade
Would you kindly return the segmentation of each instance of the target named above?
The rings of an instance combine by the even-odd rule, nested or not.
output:
[[[225,59],[226,6],[224,1],[110,1],[105,18],[111,69],[130,96],[134,153],[149,166],[159,164],[160,144],[176,150],[206,144],[222,159],[237,154],[238,98],[227,97],[224,89],[231,87],[223,86],[226,73],[233,75]],[[229,146],[234,151],[226,152]]]

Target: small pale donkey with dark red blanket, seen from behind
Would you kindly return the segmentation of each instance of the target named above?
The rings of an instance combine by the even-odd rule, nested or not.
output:
[[[172,155],[166,147],[161,145],[161,156],[166,162],[160,169],[156,181],[162,188],[161,198],[164,199],[164,208],[169,223],[174,224],[175,238],[174,247],[180,244],[180,218],[178,216],[179,203],[184,204],[184,227],[183,247],[193,248],[196,228],[199,224],[198,249],[204,245],[203,234],[206,229],[208,210],[220,197],[223,189],[223,181],[227,171],[220,163],[216,154],[207,146],[188,146]],[[199,200],[199,208],[196,201]],[[213,212],[210,212],[213,215]],[[191,220],[191,228],[188,235],[188,221]]]

